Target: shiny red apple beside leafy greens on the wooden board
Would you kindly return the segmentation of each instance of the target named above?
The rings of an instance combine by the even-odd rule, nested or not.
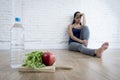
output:
[[[51,66],[54,64],[56,58],[51,52],[44,52],[42,55],[42,61],[46,66]]]

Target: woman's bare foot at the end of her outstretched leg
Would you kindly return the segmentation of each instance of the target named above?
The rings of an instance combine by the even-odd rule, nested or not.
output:
[[[109,43],[105,42],[102,44],[102,46],[100,48],[95,50],[96,57],[101,58],[103,51],[105,51],[108,48],[108,46],[109,46]]]

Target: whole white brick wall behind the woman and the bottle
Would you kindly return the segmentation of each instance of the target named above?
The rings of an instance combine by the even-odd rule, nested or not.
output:
[[[91,36],[89,46],[104,41],[120,48],[119,0],[0,0],[0,49],[9,49],[14,17],[22,18],[26,49],[67,48],[67,26],[75,11],[86,14]],[[116,5],[117,4],[117,5]]]

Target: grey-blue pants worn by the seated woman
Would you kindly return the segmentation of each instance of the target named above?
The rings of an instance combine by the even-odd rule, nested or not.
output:
[[[89,28],[87,26],[84,26],[81,29],[80,39],[89,40],[89,36],[90,36]],[[95,49],[87,48],[87,45],[84,45],[84,44],[81,44],[78,42],[71,42],[69,44],[69,50],[79,51],[83,54],[87,54],[87,55],[91,55],[91,56],[94,56],[94,53],[95,53]]]

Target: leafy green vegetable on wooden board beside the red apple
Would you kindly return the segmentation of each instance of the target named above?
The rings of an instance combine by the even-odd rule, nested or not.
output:
[[[31,53],[26,54],[23,66],[30,67],[35,70],[44,67],[45,65],[43,64],[42,61],[42,54],[43,54],[42,51],[33,51]]]

